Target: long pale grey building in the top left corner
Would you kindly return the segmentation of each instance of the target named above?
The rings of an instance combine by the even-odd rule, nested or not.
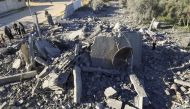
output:
[[[25,0],[0,0],[0,14],[22,7],[26,7]]]

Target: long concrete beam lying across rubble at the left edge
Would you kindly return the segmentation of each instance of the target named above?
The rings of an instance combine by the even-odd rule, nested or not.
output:
[[[13,82],[19,82],[20,80],[25,80],[29,78],[33,78],[37,75],[37,71],[30,71],[26,73],[20,73],[20,74],[15,74],[11,76],[6,76],[6,77],[0,77],[0,85],[6,85],[8,83],[13,83]]]

